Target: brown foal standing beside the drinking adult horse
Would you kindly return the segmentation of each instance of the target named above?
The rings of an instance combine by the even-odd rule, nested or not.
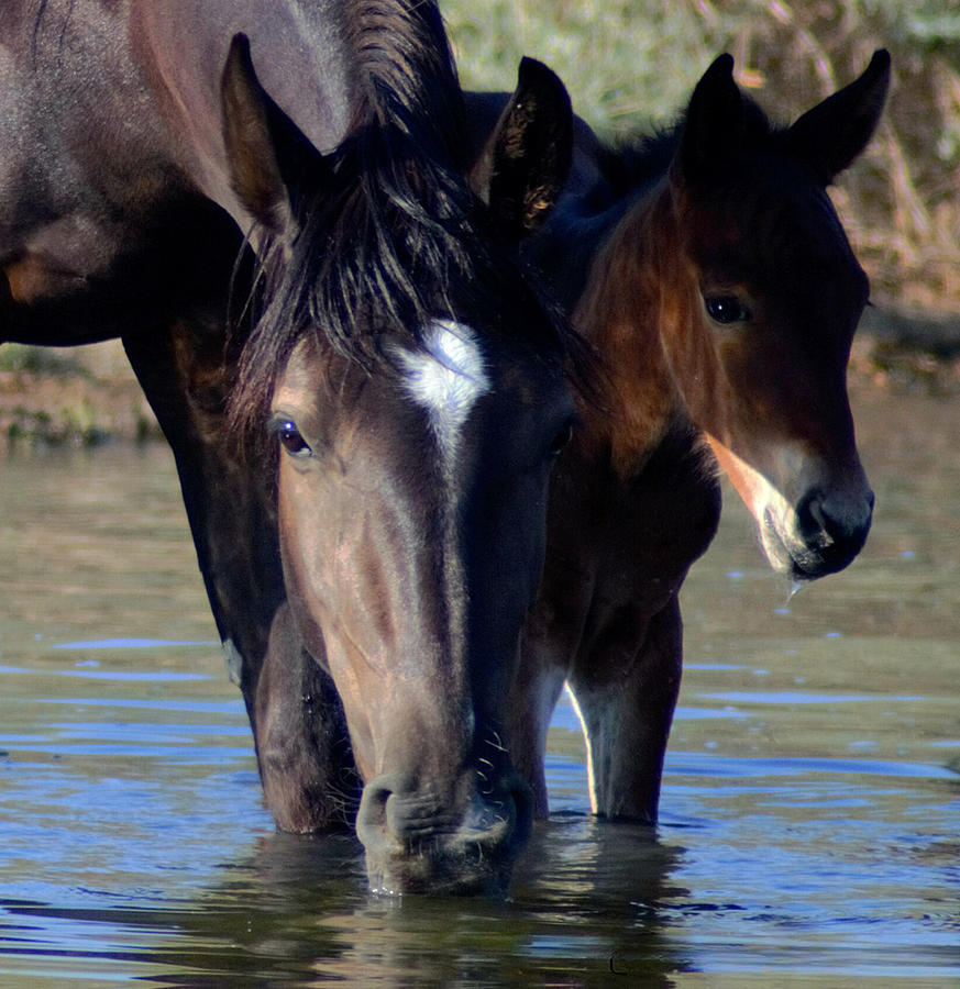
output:
[[[827,186],[876,126],[890,59],[876,53],[786,129],[741,95],[732,67],[718,58],[683,121],[637,149],[608,151],[581,127],[564,196],[531,242],[604,371],[554,474],[511,702],[511,751],[539,814],[566,682],[594,811],[656,819],[678,592],[719,519],[710,451],[794,581],[846,567],[870,527],[846,390],[868,281]],[[493,102],[476,99],[479,119]]]

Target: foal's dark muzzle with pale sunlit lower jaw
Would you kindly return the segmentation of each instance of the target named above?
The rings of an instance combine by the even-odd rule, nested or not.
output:
[[[774,455],[775,475],[790,478],[787,497],[764,474],[715,436],[707,441],[737,493],[757,521],[770,566],[803,584],[836,574],[863,548],[873,514],[873,492],[859,460],[842,474],[799,443]]]

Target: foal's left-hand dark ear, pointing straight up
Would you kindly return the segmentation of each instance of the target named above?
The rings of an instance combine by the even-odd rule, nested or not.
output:
[[[700,77],[687,105],[674,168],[696,180],[739,148],[744,130],[743,98],[733,80],[733,56],[719,55]]]

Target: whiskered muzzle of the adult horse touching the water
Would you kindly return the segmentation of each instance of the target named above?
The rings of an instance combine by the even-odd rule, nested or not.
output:
[[[479,784],[441,800],[433,787],[415,789],[396,776],[371,780],[356,818],[371,889],[503,896],[530,834],[532,794],[516,774]]]

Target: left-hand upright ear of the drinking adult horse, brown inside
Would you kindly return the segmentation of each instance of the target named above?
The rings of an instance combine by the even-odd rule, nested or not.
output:
[[[243,208],[267,231],[291,236],[291,196],[319,152],[261,86],[250,40],[236,34],[220,82],[230,181]]]

